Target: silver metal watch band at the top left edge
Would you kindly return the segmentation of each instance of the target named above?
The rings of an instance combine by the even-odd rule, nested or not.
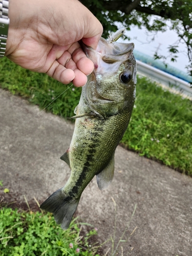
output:
[[[0,58],[4,57],[9,28],[8,17],[9,1],[0,0]]]

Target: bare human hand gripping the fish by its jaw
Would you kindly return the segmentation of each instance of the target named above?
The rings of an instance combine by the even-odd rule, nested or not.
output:
[[[78,41],[96,49],[98,19],[77,0],[9,0],[6,56],[23,68],[80,87],[93,62]]]

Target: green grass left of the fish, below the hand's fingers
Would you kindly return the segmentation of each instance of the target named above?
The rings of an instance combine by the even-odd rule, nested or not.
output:
[[[39,74],[25,70],[7,58],[0,62],[0,87],[9,90],[12,94],[29,98],[29,101],[38,104],[41,109],[46,108],[68,86],[50,78],[46,74]],[[48,106],[47,111],[63,117],[74,115],[74,109],[79,102],[81,88],[71,87],[57,100]]]

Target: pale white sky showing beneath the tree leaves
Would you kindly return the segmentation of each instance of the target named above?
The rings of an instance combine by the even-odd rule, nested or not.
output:
[[[138,29],[136,26],[132,26],[131,31],[127,30],[125,34],[131,38],[130,42],[134,42],[135,50],[152,57],[158,47],[159,55],[168,56],[167,47],[173,45],[178,40],[176,32],[169,29],[166,32],[157,32],[154,41],[152,41],[154,33],[148,32],[145,28]],[[179,53],[176,54],[178,56],[177,62],[172,62],[167,58],[166,63],[187,73],[185,66],[189,64],[189,61],[186,48],[183,44],[180,44],[178,50]]]

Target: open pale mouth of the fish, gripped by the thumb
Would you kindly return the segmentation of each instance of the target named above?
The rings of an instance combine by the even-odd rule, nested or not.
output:
[[[94,50],[89,46],[83,45],[84,52],[87,57],[94,63],[95,68],[102,59],[106,63],[114,63],[116,61],[125,61],[129,58],[134,50],[134,44],[122,42],[108,42],[104,38],[100,38],[97,49]]]

